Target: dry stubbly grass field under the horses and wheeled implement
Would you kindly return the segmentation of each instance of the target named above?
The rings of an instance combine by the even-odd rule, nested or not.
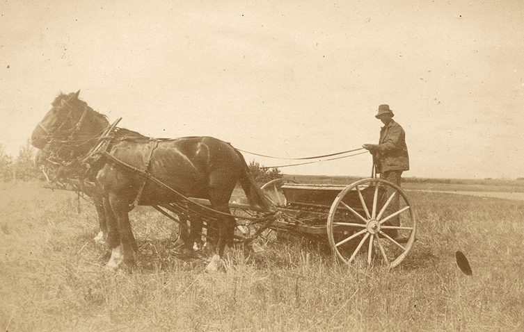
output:
[[[0,194],[1,331],[524,331],[524,201],[411,192],[418,242],[389,272],[269,240],[203,273],[173,250],[175,223],[139,207],[129,273],[104,269],[95,209],[77,213],[74,193]]]

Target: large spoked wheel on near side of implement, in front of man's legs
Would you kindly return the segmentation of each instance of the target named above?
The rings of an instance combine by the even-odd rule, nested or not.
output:
[[[415,213],[397,185],[363,179],[338,194],[328,214],[333,253],[351,264],[365,257],[368,265],[399,265],[415,242]]]

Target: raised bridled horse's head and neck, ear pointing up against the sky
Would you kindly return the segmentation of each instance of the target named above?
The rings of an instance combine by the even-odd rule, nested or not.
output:
[[[33,147],[43,150],[49,143],[58,142],[85,150],[88,147],[85,143],[109,126],[107,118],[81,101],[79,94],[80,90],[59,94],[54,99],[51,103],[53,107],[31,134]]]

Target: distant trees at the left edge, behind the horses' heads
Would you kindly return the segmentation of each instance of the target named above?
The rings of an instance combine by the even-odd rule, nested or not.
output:
[[[42,173],[34,164],[35,148],[29,144],[20,147],[18,156],[13,158],[6,153],[6,147],[0,143],[0,181],[30,181],[40,179]]]

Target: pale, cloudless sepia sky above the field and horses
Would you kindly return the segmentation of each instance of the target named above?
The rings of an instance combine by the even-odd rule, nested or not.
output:
[[[0,144],[60,92],[157,138],[213,136],[285,174],[369,176],[387,103],[404,177],[524,177],[524,1],[0,0]]]

